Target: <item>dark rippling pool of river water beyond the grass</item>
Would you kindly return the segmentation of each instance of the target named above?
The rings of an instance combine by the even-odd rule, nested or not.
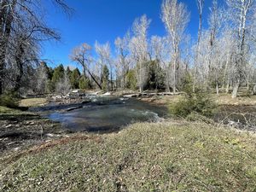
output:
[[[112,132],[125,125],[142,121],[158,121],[167,108],[123,97],[90,97],[84,104],[47,106],[32,110],[44,112],[44,117],[60,122],[70,131]],[[67,111],[67,108],[77,108]],[[57,110],[57,111],[56,111]]]

